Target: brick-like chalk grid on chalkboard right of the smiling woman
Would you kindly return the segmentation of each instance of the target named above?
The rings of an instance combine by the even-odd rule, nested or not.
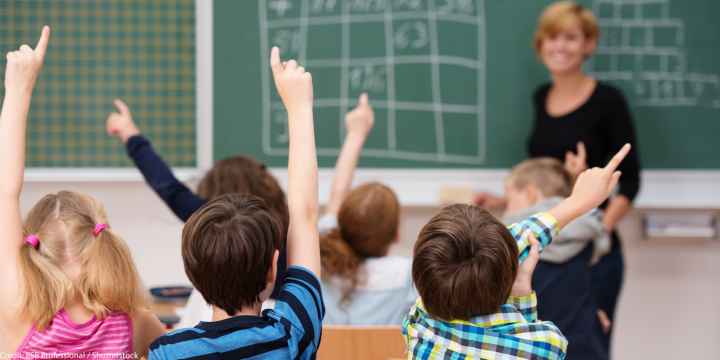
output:
[[[720,108],[720,76],[688,70],[685,22],[669,0],[594,0],[602,36],[594,76],[625,84],[640,106]]]

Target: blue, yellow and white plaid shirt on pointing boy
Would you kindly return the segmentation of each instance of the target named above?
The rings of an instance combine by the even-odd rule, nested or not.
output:
[[[527,230],[546,247],[557,234],[557,220],[540,213],[508,227],[527,258]],[[510,297],[495,314],[470,320],[433,318],[418,299],[403,322],[412,359],[564,359],[567,339],[551,322],[538,321],[535,293]]]

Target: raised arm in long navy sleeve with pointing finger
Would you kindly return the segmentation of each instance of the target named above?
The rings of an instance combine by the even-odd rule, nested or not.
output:
[[[117,112],[108,115],[107,133],[125,144],[128,155],[148,185],[175,213],[175,216],[187,221],[205,204],[205,200],[195,195],[175,177],[167,163],[155,152],[150,141],[141,135],[125,102],[116,99],[113,104]]]

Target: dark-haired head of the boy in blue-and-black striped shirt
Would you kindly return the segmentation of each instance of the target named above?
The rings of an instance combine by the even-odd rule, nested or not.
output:
[[[208,304],[233,316],[269,296],[282,238],[280,221],[262,199],[216,197],[183,228],[185,273]]]

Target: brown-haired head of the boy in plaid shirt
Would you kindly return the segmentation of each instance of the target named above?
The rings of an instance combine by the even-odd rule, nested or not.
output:
[[[412,276],[430,315],[468,320],[500,309],[517,268],[517,243],[505,225],[477,206],[458,204],[420,231]]]

